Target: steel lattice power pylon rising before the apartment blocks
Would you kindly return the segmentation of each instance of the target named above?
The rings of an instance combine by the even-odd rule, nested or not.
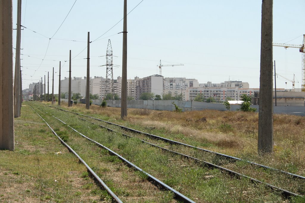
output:
[[[113,69],[112,69],[112,47],[110,39],[108,40],[107,52],[106,52],[106,81],[105,81],[105,98],[108,93],[112,94],[114,100],[114,88],[113,88]]]

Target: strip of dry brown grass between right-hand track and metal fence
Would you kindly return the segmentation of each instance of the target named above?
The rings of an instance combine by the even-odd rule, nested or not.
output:
[[[120,108],[101,108],[84,105],[71,108],[75,111],[106,116],[117,123],[149,126],[168,134],[183,134],[199,143],[210,143],[210,150],[235,156],[250,157],[268,163],[277,161],[293,165],[298,173],[305,168],[305,118],[301,116],[274,114],[274,154],[269,158],[257,155],[258,113],[203,110],[170,112],[148,109],[128,109],[127,119],[120,120]],[[206,121],[202,121],[205,118]]]

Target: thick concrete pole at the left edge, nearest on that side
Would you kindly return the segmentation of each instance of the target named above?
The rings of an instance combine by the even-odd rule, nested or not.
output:
[[[0,1],[0,59],[5,59],[0,61],[0,149],[11,151],[15,148],[12,8],[12,0]]]

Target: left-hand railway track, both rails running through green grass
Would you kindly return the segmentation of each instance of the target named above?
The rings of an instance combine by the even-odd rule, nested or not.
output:
[[[31,107],[32,108],[32,107]],[[32,108],[33,109],[33,108]],[[44,111],[41,108],[38,108],[41,111]],[[34,110],[34,109],[33,109]],[[34,110],[34,112],[36,112],[38,114],[38,116],[48,125],[48,127],[52,130],[53,134],[55,134],[59,140],[62,142],[62,144],[64,144],[69,151],[71,151],[75,156],[77,156],[77,158],[86,166],[86,168],[88,169],[89,173],[92,174],[92,176],[98,181],[98,183],[100,183],[102,185],[102,187],[109,193],[109,195],[112,196],[112,198],[118,202],[121,203],[122,201],[117,197],[116,194],[114,194],[113,191],[111,191],[109,189],[109,187],[101,180],[101,178],[88,166],[88,164],[86,162],[84,162],[84,160],[68,145],[66,144],[66,142],[64,142],[59,136],[58,134],[56,134],[55,130],[52,129],[52,127],[45,121],[45,119],[42,118],[41,115],[39,115],[39,113],[37,111]],[[48,112],[46,112],[48,113]],[[87,140],[91,141],[92,143],[96,144],[98,147],[103,148],[105,150],[107,150],[109,152],[109,154],[118,157],[120,160],[122,160],[125,164],[127,164],[129,167],[140,171],[141,173],[145,174],[145,176],[147,176],[147,180],[152,182],[154,185],[156,185],[157,187],[163,189],[163,190],[167,190],[170,191],[174,194],[174,198],[176,200],[178,200],[179,202],[185,202],[185,203],[195,203],[195,201],[191,200],[190,198],[186,197],[185,195],[181,194],[180,192],[174,190],[172,187],[168,186],[167,184],[163,183],[162,181],[160,181],[159,179],[157,179],[156,177],[152,176],[151,174],[145,172],[143,169],[139,168],[138,166],[136,166],[134,163],[128,161],[126,158],[124,158],[123,156],[119,155],[118,153],[116,153],[115,151],[107,148],[106,146],[100,144],[99,142],[85,136],[84,134],[80,133],[79,131],[77,131],[76,129],[74,129],[73,127],[67,125],[65,122],[63,122],[61,119],[56,118],[55,116],[51,115],[53,118],[59,120],[61,123],[63,123],[65,126],[71,128],[74,132],[76,132],[77,134],[81,135],[82,137],[86,138]]]

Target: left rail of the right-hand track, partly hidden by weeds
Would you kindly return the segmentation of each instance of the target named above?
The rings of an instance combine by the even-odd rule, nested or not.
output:
[[[98,126],[100,126],[101,128],[105,128],[105,129],[108,130],[108,131],[115,132],[115,133],[120,133],[120,132],[115,131],[115,130],[113,130],[113,129],[111,129],[111,128],[108,128],[108,127],[106,127],[106,126],[99,125],[98,123],[94,123],[94,122],[91,122],[91,121],[89,121],[89,120],[86,120],[86,119],[83,119],[83,118],[80,118],[80,117],[78,117],[78,118],[81,119],[81,120],[87,121],[87,122],[89,122],[89,123],[98,125]],[[124,134],[124,133],[122,133],[122,135],[125,136],[125,137],[128,137],[128,138],[135,138],[135,137],[133,137],[133,136],[130,136],[130,135],[127,135],[127,134]],[[137,139],[137,138],[135,138],[135,139]],[[246,179],[251,180],[253,183],[260,183],[260,184],[263,184],[263,185],[265,185],[266,187],[269,187],[269,188],[270,188],[271,190],[273,190],[273,191],[278,190],[278,191],[282,192],[282,194],[284,194],[284,196],[285,196],[286,198],[287,198],[287,197],[290,197],[290,196],[302,196],[302,195],[299,195],[299,194],[296,194],[296,193],[287,191],[287,190],[285,190],[285,189],[282,189],[282,188],[280,188],[280,187],[276,187],[276,186],[271,185],[271,184],[269,184],[269,183],[262,182],[262,181],[260,181],[260,180],[255,179],[255,178],[252,178],[252,177],[250,177],[250,176],[246,176],[246,175],[243,175],[243,174],[241,174],[241,173],[232,171],[232,170],[230,170],[230,169],[227,169],[227,168],[224,168],[224,167],[221,167],[221,166],[212,164],[212,163],[210,163],[210,162],[203,161],[203,160],[201,160],[201,159],[199,159],[199,158],[195,158],[195,157],[192,157],[192,156],[189,156],[189,155],[185,155],[185,154],[179,153],[179,152],[177,152],[177,151],[173,151],[173,150],[170,150],[170,149],[167,149],[167,148],[163,148],[163,147],[160,147],[160,146],[158,146],[158,145],[156,145],[156,144],[152,144],[152,143],[147,142],[147,141],[142,140],[142,139],[140,139],[140,140],[141,140],[143,143],[145,143],[145,144],[149,144],[149,145],[151,145],[151,146],[153,146],[153,147],[156,147],[156,148],[159,148],[159,149],[161,149],[161,150],[163,150],[163,151],[167,151],[167,152],[170,152],[170,153],[174,153],[174,154],[180,155],[180,156],[182,156],[182,157],[184,157],[184,158],[192,159],[192,160],[194,160],[194,161],[196,161],[196,162],[198,162],[198,163],[203,163],[205,166],[207,166],[207,167],[209,167],[209,168],[220,169],[221,171],[227,172],[227,173],[229,173],[229,174],[231,174],[231,175],[233,175],[233,176],[236,176],[236,177],[238,177],[238,178],[246,178]]]

